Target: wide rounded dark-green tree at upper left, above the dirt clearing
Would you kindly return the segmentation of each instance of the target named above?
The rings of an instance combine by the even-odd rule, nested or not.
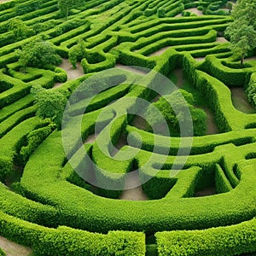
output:
[[[15,52],[19,55],[23,71],[26,71],[27,66],[44,67],[46,64],[61,64],[61,57],[56,55],[53,44],[45,41],[44,36],[34,39],[31,43],[25,44],[22,49],[16,49]]]

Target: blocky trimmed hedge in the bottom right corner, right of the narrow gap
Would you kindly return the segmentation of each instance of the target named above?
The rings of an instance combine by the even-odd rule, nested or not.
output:
[[[159,256],[234,256],[256,252],[256,218],[208,230],[158,232]]]

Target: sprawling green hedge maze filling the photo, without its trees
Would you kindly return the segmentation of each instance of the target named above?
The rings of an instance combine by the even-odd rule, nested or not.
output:
[[[240,88],[253,106],[256,61],[247,59],[240,67],[223,38],[232,21],[229,4],[88,0],[70,9],[67,20],[56,0],[0,4],[1,236],[32,247],[36,255],[256,252],[256,112],[241,112],[232,96]],[[12,19],[26,27],[20,38],[9,28]],[[20,72],[15,49],[41,34],[61,58],[69,58],[73,67],[81,65],[84,75],[67,80],[66,71],[54,66]],[[152,71],[134,73],[127,66]],[[111,78],[101,73],[112,67],[118,68]],[[207,109],[200,120],[207,124],[212,115],[216,131],[204,127],[191,138],[172,137],[171,130],[166,137],[138,125],[136,114],[130,114],[137,101],[129,99],[157,101],[156,73],[174,84],[179,80],[184,98],[193,98],[194,110]],[[97,74],[103,81],[96,84],[100,93],[84,112],[87,96],[79,85],[93,88]],[[106,87],[109,79],[117,85]],[[67,98],[76,94],[69,113],[73,119],[62,131],[36,115],[30,93],[34,84]],[[191,113],[194,124],[197,113]],[[76,118],[82,119],[84,145],[73,131]],[[86,143],[96,125],[101,128],[96,141]],[[120,160],[123,155],[131,157]],[[85,182],[67,158],[77,163],[80,176],[92,172],[97,182],[107,179],[108,188]],[[136,169],[147,181],[143,191],[148,200],[119,200],[125,173]],[[113,189],[115,183],[123,189]]]

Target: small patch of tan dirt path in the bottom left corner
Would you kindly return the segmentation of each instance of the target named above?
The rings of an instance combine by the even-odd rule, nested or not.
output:
[[[0,248],[7,256],[27,256],[32,253],[32,249],[29,247],[23,247],[13,241],[9,241],[3,236],[0,236]]]

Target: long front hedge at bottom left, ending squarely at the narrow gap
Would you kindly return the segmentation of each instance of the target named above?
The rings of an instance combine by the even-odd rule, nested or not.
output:
[[[0,234],[30,246],[37,255],[145,255],[145,235],[109,231],[108,235],[61,226],[49,229],[0,212]]]

